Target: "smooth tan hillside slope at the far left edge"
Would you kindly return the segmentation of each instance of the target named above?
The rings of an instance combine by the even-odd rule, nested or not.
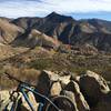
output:
[[[23,32],[22,28],[10,23],[8,19],[0,18],[0,43],[10,43]]]

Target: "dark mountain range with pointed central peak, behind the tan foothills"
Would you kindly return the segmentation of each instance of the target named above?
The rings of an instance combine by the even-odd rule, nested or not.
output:
[[[74,20],[52,12],[44,18],[19,18],[11,22],[27,31],[37,29],[62,43],[72,46],[88,43],[99,50],[111,51],[111,21]]]

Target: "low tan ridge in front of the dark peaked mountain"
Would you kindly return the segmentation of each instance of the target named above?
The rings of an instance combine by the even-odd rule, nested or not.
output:
[[[11,42],[16,47],[22,46],[22,47],[29,47],[29,48],[36,48],[36,47],[43,47],[43,48],[58,48],[60,46],[59,41],[46,36],[44,33],[41,33],[40,31],[32,29],[28,31],[27,33],[21,34],[21,37],[17,37],[14,41]]]

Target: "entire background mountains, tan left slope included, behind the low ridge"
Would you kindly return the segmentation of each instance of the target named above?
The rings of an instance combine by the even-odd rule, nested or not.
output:
[[[111,21],[99,19],[74,20],[56,12],[44,18],[0,18],[0,42],[13,43],[16,39],[16,43],[19,44],[18,42],[20,40],[22,42],[26,38],[24,44],[28,44],[29,33],[33,29],[64,44],[78,47],[89,44],[98,50],[111,52]]]

